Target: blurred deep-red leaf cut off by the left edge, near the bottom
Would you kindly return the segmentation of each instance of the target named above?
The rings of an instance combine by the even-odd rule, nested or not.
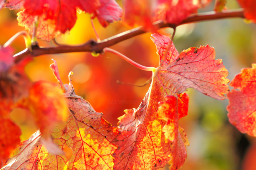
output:
[[[20,143],[21,130],[10,119],[0,116],[0,162],[3,163]],[[0,164],[1,165],[1,164]]]

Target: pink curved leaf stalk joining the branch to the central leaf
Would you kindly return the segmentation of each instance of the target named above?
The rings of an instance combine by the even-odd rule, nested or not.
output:
[[[131,65],[141,69],[141,70],[145,70],[145,71],[153,71],[153,72],[156,72],[157,68],[155,67],[146,67],[146,66],[143,66],[143,65],[140,65],[139,63],[133,61],[132,59],[129,59],[127,56],[119,53],[118,51],[116,50],[113,50],[111,48],[104,48],[103,49],[104,52],[110,52],[110,53],[113,53],[113,54],[116,54],[117,56],[119,56],[121,59],[124,59],[125,61],[129,62]]]

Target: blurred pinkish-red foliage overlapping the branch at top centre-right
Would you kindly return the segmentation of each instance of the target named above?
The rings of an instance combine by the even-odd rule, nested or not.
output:
[[[197,10],[210,2],[193,0],[125,0],[124,20],[130,25],[143,25],[145,29],[153,28],[152,22],[163,20],[179,24]],[[142,24],[143,22],[143,24]]]

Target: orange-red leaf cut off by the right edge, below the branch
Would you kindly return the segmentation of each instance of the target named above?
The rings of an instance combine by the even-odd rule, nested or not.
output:
[[[240,132],[256,136],[256,64],[242,69],[230,86],[235,88],[227,94],[230,123]]]

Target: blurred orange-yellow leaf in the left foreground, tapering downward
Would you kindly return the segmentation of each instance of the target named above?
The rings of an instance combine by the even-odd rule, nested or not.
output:
[[[30,89],[27,107],[45,138],[55,124],[64,122],[68,116],[62,90],[53,83],[43,81],[34,83]]]

